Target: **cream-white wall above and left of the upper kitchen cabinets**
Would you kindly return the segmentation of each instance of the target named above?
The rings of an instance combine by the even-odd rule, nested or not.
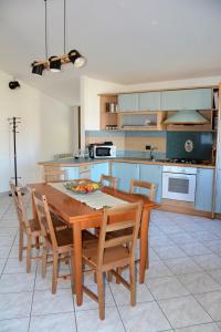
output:
[[[141,83],[120,85],[113,82],[94,80],[87,76],[81,81],[81,106],[82,106],[82,141],[84,131],[99,129],[99,97],[101,93],[136,92],[146,90],[178,89],[217,85],[221,82],[221,76],[189,79],[179,81],[166,81],[154,83]]]

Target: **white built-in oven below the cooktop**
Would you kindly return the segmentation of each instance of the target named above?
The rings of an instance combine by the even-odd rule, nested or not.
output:
[[[194,201],[197,168],[162,166],[162,198]]]

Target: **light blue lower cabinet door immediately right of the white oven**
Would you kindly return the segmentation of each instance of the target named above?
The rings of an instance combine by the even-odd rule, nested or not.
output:
[[[213,169],[198,168],[194,208],[202,211],[212,210]]]

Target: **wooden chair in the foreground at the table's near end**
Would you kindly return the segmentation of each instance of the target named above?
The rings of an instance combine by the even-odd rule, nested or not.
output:
[[[139,231],[141,217],[141,204],[125,204],[119,207],[104,210],[103,222],[97,241],[83,245],[83,263],[92,268],[96,273],[98,295],[83,286],[84,291],[98,302],[99,318],[105,318],[104,302],[104,272],[110,272],[119,282],[130,291],[130,304],[136,304],[136,281],[135,281],[135,248]],[[131,229],[129,235],[108,235],[116,230]],[[125,245],[128,247],[125,247]],[[119,276],[120,267],[129,266],[129,283]],[[116,271],[115,271],[116,269]]]

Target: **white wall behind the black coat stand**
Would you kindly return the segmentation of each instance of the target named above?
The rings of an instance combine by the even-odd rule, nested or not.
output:
[[[21,116],[18,134],[18,173],[22,184],[40,179],[38,162],[73,151],[73,111],[56,100],[0,72],[0,193],[13,176],[12,133],[7,118]]]

